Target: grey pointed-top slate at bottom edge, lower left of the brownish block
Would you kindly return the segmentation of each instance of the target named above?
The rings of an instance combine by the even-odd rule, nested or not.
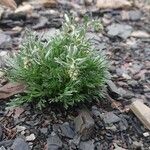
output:
[[[48,150],[59,150],[62,147],[62,141],[59,136],[52,132],[47,139]]]

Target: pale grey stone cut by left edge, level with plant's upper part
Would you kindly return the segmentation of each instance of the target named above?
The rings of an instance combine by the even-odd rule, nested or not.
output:
[[[11,46],[12,46],[11,37],[3,32],[0,32],[0,48],[7,49],[11,48]]]

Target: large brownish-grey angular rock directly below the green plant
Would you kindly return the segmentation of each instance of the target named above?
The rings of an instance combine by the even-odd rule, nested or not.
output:
[[[87,140],[93,135],[95,122],[90,113],[83,109],[74,119],[75,131],[81,135],[82,140]]]

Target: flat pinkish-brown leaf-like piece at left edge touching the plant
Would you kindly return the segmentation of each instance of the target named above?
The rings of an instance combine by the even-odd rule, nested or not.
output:
[[[0,99],[7,99],[13,95],[23,93],[26,87],[20,83],[8,83],[0,88]]]

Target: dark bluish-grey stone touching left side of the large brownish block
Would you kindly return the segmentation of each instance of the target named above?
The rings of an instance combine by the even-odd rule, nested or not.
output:
[[[65,122],[64,124],[62,124],[60,126],[60,129],[61,129],[63,136],[65,136],[65,137],[72,139],[75,135],[73,129],[69,126],[68,122]]]

